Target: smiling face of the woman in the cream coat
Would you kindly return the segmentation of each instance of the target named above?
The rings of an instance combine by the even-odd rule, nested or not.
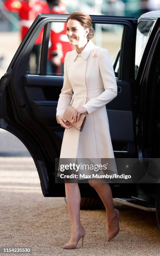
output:
[[[71,45],[81,45],[86,42],[89,28],[84,28],[78,20],[68,20],[66,35]]]

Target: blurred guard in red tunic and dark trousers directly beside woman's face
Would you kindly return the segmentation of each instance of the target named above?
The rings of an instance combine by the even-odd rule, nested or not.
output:
[[[53,14],[67,14],[66,7],[67,1],[65,0],[50,1],[50,10]],[[74,49],[66,36],[66,26],[67,23],[52,22],[51,24],[51,46],[48,49],[47,73],[63,74],[64,57],[68,51]]]

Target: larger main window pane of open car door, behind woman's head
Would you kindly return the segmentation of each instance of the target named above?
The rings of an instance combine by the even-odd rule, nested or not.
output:
[[[124,26],[115,24],[93,24],[93,43],[108,49],[111,59],[121,46]],[[74,50],[66,36],[66,23],[52,22],[48,46],[47,75],[63,76],[64,57],[66,52]],[[117,67],[117,74],[118,74]]]

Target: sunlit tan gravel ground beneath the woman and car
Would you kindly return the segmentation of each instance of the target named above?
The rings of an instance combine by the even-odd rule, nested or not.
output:
[[[120,232],[107,242],[105,210],[81,210],[84,247],[65,250],[70,219],[61,197],[43,197],[31,157],[0,157],[0,247],[32,248],[28,255],[160,255],[155,212],[119,203]],[[21,253],[3,255],[22,255]]]

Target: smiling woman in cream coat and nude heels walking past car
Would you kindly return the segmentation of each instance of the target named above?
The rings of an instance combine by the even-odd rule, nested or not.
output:
[[[105,107],[117,96],[117,83],[109,52],[91,41],[94,36],[91,17],[83,12],[75,11],[70,14],[66,35],[75,49],[65,56],[64,82],[57,105],[57,122],[66,128],[60,159],[114,158]],[[79,120],[82,113],[86,114],[82,132],[63,118],[68,105],[75,108],[72,113],[74,122]],[[110,241],[119,233],[119,211],[114,209],[111,188],[109,184],[98,183],[94,179],[89,179],[89,184],[104,203],[107,241]],[[80,238],[83,246],[86,231],[80,221],[81,195],[78,183],[65,183],[65,191],[71,218],[71,238],[63,248],[73,249]]]

